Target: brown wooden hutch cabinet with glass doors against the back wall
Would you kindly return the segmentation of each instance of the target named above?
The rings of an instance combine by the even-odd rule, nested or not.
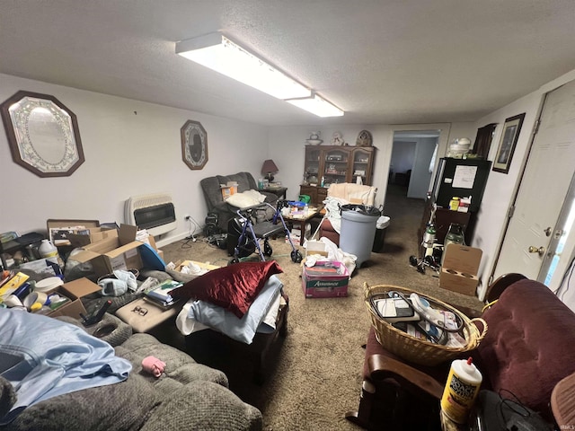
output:
[[[309,195],[320,204],[332,183],[356,182],[371,185],[375,146],[306,145],[304,183],[300,195]],[[323,179],[323,187],[321,187]]]

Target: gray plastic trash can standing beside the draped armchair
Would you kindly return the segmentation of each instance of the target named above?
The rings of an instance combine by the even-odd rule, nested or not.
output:
[[[341,206],[340,248],[358,257],[358,268],[371,255],[379,216],[381,213],[376,207],[355,204]]]

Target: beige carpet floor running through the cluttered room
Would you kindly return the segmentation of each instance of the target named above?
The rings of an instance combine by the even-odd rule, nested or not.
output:
[[[405,286],[446,301],[481,308],[479,300],[438,287],[438,277],[411,267],[409,257],[418,250],[417,228],[423,201],[403,196],[405,189],[390,190],[384,214],[391,217],[382,253],[359,268],[349,282],[346,298],[306,299],[301,268],[289,258],[288,244],[271,242],[273,258],[284,269],[281,280],[290,299],[288,337],[275,355],[275,369],[262,386],[250,380],[241,358],[226,370],[231,388],[243,400],[261,409],[264,429],[354,430],[344,414],[357,409],[364,351],[370,321],[363,301],[363,284]],[[226,251],[198,242],[175,242],[164,247],[166,261],[195,259],[226,265]],[[256,255],[252,255],[256,257]],[[177,337],[177,336],[176,336]]]

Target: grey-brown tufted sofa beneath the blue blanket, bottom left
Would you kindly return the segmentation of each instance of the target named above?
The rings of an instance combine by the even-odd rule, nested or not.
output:
[[[127,324],[111,314],[105,314],[104,319],[91,328],[84,328],[79,321],[65,316],[57,320],[36,317],[46,320],[49,326],[42,333],[43,339],[54,335],[50,330],[57,330],[58,340],[66,339],[62,334],[68,332],[88,332],[84,337],[109,343],[114,347],[116,360],[127,360],[125,363],[131,365],[131,371],[120,383],[57,394],[35,402],[3,429],[255,431],[262,427],[260,410],[244,403],[227,389],[226,374],[197,364],[190,356],[160,343],[149,334],[132,334]],[[33,337],[25,328],[18,330],[23,339]],[[5,349],[0,353],[5,353]],[[143,365],[148,356],[164,363],[164,370],[161,374],[158,372],[157,377]],[[66,365],[66,370],[68,366],[74,365]],[[0,369],[5,367],[0,364]],[[12,384],[2,375],[9,373],[0,374],[0,418],[4,418],[17,401]]]

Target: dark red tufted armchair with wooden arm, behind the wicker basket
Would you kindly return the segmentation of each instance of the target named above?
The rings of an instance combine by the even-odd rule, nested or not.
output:
[[[507,287],[482,319],[488,330],[471,355],[482,389],[515,396],[552,422],[553,388],[575,372],[575,313],[547,286],[524,278]],[[394,356],[371,328],[359,407],[346,418],[369,430],[436,429],[448,369],[448,363],[425,367]]]

